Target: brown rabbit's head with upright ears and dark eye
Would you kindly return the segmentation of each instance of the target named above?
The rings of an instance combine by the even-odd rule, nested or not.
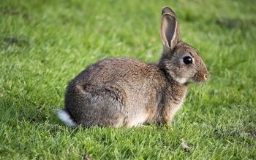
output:
[[[179,38],[176,15],[169,7],[162,9],[161,37],[164,51],[159,64],[180,84],[206,81],[210,74],[199,53]]]

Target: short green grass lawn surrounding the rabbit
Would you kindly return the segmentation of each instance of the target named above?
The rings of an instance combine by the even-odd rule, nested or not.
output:
[[[106,57],[157,62],[160,9],[211,73],[171,126],[71,129],[56,117],[68,81]],[[256,159],[256,3],[1,1],[1,159]],[[195,148],[184,152],[181,139]]]

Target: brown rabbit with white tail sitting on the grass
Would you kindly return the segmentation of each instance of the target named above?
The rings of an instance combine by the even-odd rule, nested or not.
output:
[[[67,86],[59,119],[69,127],[139,127],[171,124],[188,84],[210,74],[196,49],[181,41],[176,14],[162,8],[164,46],[158,63],[129,58],[100,60]]]

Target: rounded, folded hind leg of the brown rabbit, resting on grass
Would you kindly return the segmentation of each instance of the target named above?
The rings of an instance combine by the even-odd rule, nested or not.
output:
[[[127,112],[121,92],[115,87],[101,87],[88,94],[81,104],[80,124],[86,127],[123,127]]]

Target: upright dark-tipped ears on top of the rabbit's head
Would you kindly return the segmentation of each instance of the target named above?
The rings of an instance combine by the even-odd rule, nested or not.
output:
[[[161,37],[162,43],[170,50],[176,46],[179,40],[176,15],[169,7],[162,9]]]

